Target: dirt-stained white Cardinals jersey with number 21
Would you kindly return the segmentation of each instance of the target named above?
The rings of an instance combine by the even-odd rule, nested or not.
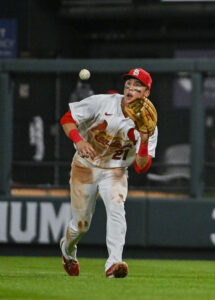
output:
[[[122,112],[123,95],[93,95],[80,102],[69,103],[79,134],[90,143],[98,156],[90,164],[100,168],[128,167],[134,160],[140,145],[140,134],[135,124]],[[129,139],[133,129],[135,141]],[[155,156],[158,130],[149,138],[149,155]]]

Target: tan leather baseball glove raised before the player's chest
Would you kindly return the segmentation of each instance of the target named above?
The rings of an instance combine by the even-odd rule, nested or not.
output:
[[[157,111],[147,98],[136,99],[125,106],[127,115],[134,121],[137,130],[152,136],[157,125]]]

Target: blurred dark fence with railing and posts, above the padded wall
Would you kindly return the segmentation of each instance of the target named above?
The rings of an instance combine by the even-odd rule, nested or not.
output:
[[[150,99],[158,111],[156,158],[148,174],[129,168],[129,188],[215,191],[215,61],[201,59],[99,59],[0,61],[0,191],[12,187],[68,188],[73,144],[59,125],[82,86],[95,94],[123,93],[121,75],[134,67],[153,79]]]

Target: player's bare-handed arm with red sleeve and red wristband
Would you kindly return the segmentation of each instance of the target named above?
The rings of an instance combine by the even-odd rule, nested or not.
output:
[[[69,139],[75,143],[78,154],[81,157],[90,157],[94,159],[97,155],[93,147],[79,135],[78,128],[75,120],[72,117],[71,111],[65,113],[65,115],[60,120],[61,126]]]

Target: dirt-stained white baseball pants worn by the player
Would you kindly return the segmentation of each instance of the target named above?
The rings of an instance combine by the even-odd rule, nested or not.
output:
[[[67,259],[76,256],[76,244],[89,229],[98,193],[106,208],[106,243],[108,260],[105,270],[122,261],[126,235],[124,202],[127,197],[127,170],[125,168],[101,169],[83,165],[74,157],[70,179],[72,219],[68,225],[62,247]],[[98,224],[99,226],[99,224]]]

